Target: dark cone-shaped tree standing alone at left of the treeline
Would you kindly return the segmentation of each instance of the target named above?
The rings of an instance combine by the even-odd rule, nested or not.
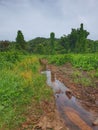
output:
[[[25,49],[26,42],[24,40],[24,36],[23,36],[21,30],[18,30],[18,32],[17,32],[16,43],[17,43],[18,49]]]

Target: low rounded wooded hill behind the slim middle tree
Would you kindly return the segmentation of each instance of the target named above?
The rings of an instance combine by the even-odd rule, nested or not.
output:
[[[55,38],[53,53],[56,54],[65,53],[65,49],[63,46],[61,46],[59,41],[60,41],[59,39]],[[30,53],[44,54],[44,55],[52,54],[51,53],[52,45],[50,38],[37,37],[31,41],[28,41],[28,45],[29,45],[28,51]]]

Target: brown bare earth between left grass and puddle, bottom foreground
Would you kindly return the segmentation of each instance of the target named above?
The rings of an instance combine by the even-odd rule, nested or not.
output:
[[[68,130],[61,119],[54,98],[29,107],[26,121],[18,130]]]

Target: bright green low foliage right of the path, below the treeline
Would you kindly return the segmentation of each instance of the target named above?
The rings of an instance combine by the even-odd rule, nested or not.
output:
[[[62,65],[70,62],[74,67],[82,70],[98,69],[98,54],[65,54],[48,56],[49,63]]]

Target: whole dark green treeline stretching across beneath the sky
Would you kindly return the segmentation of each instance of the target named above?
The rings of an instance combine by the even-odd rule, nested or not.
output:
[[[98,41],[87,39],[90,33],[84,30],[83,24],[78,29],[72,29],[68,35],[55,38],[55,33],[50,33],[50,38],[37,37],[25,41],[21,30],[17,32],[15,42],[0,41],[0,51],[17,49],[35,54],[64,54],[64,53],[94,53],[98,52]]]

